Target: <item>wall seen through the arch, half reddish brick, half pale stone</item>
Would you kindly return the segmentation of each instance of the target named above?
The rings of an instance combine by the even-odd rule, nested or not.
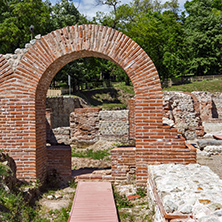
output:
[[[70,114],[70,129],[71,143],[77,146],[87,146],[99,139],[128,142],[128,110],[75,109]]]

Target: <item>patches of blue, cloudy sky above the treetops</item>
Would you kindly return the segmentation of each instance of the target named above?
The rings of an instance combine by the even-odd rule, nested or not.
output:
[[[50,0],[52,4],[55,4],[58,2],[58,0]],[[121,4],[129,4],[131,0],[120,0]],[[166,2],[167,0],[161,0],[161,3]],[[169,0],[168,0],[169,1]],[[108,6],[100,6],[96,5],[95,0],[72,0],[75,7],[79,10],[81,14],[84,14],[88,19],[91,19],[96,15],[96,12],[102,11],[102,12],[108,12],[110,8]],[[180,4],[180,8],[183,8],[184,3],[186,0],[178,0]]]

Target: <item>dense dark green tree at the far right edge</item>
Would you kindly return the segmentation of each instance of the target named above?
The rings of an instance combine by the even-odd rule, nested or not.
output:
[[[214,8],[219,7],[216,3],[194,0],[185,4],[187,71],[195,75],[216,75],[222,71],[222,12]]]

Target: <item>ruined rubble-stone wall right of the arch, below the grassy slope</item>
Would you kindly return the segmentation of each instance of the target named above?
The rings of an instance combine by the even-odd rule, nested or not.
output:
[[[164,117],[186,139],[222,131],[222,93],[164,92]]]

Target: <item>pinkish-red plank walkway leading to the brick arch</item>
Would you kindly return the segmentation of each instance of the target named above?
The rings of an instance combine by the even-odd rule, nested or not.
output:
[[[68,222],[118,222],[110,182],[78,182]]]

